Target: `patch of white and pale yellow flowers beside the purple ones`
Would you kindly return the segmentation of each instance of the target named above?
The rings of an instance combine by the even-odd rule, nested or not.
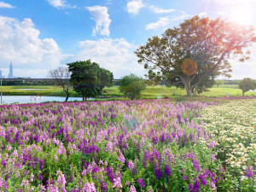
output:
[[[210,106],[202,112],[205,128],[214,138],[216,156],[237,179],[236,187],[256,191],[256,100]],[[253,179],[254,178],[254,179]]]

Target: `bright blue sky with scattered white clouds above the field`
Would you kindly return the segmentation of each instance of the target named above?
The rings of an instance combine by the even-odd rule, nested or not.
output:
[[[256,26],[256,0],[0,0],[0,68],[44,78],[51,68],[91,59],[114,78],[145,70],[133,53],[147,39],[194,15]],[[237,16],[241,15],[241,16]],[[231,79],[256,79],[251,60],[231,61]]]

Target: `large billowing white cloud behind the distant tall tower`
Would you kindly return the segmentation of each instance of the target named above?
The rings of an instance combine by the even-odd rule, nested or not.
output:
[[[61,54],[58,44],[52,38],[39,38],[39,34],[29,18],[20,22],[0,16],[0,68],[3,72],[9,67],[10,59],[14,65],[14,76],[36,77],[38,73],[45,77],[46,69],[60,65],[65,55]],[[34,68],[37,68],[35,73],[29,73]]]

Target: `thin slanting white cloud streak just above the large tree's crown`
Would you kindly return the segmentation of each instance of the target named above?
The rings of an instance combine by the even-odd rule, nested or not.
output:
[[[172,21],[175,20],[184,20],[188,19],[191,15],[186,15],[183,13],[183,15],[176,15],[174,17],[166,16],[166,17],[160,17],[160,19],[154,23],[149,23],[145,26],[146,30],[152,30],[152,29],[158,29],[160,27],[168,26]]]

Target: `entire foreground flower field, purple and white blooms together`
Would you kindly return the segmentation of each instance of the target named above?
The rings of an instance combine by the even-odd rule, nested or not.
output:
[[[255,103],[0,107],[0,191],[253,189]]]

